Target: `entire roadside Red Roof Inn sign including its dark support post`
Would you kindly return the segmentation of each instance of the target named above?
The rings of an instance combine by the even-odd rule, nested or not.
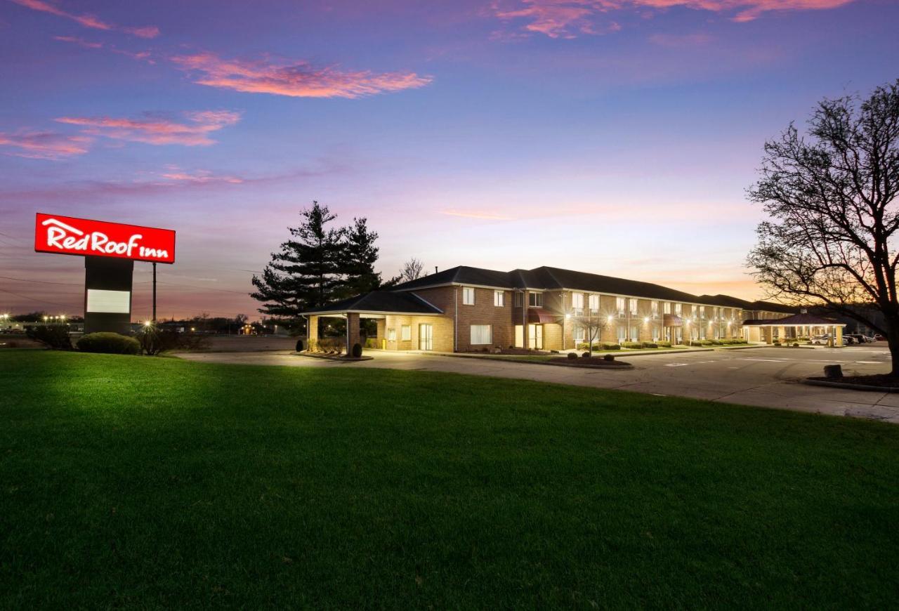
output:
[[[130,332],[134,261],[153,263],[153,321],[156,322],[156,263],[174,263],[171,229],[38,213],[34,250],[85,257],[85,332]]]

